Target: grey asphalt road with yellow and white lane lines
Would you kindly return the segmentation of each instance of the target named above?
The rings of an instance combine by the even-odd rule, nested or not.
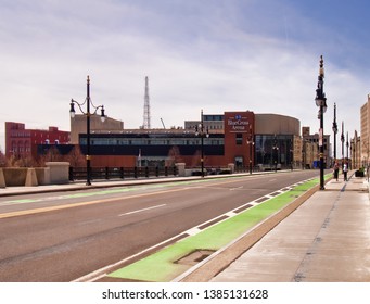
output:
[[[0,281],[75,280],[318,173],[0,198]]]

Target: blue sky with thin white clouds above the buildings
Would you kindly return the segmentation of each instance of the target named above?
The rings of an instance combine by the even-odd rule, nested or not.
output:
[[[143,124],[148,76],[154,128],[203,109],[288,115],[318,132],[320,55],[324,132],[336,103],[353,137],[370,93],[369,11],[368,0],[0,0],[0,149],[4,122],[69,130],[87,75],[92,102],[125,128]]]

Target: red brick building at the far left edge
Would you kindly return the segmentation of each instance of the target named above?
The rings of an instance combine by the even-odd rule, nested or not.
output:
[[[61,131],[58,127],[26,129],[23,123],[5,122],[5,156],[28,157],[37,155],[38,144],[69,143],[69,131]]]

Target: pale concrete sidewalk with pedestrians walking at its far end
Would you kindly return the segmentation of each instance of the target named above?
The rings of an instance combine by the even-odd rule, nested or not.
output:
[[[348,176],[329,181],[210,281],[369,282],[368,183]]]

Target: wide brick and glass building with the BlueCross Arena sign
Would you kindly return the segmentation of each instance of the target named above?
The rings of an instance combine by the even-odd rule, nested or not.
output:
[[[91,165],[164,166],[183,162],[194,167],[201,164],[202,149],[205,166],[272,169],[303,165],[296,118],[251,111],[204,114],[203,138],[195,132],[201,121],[184,122],[184,128],[177,129],[123,129],[119,124],[114,124],[114,129],[97,127],[90,135]],[[78,138],[82,153],[87,147],[85,124],[84,115],[71,123],[72,137]]]

